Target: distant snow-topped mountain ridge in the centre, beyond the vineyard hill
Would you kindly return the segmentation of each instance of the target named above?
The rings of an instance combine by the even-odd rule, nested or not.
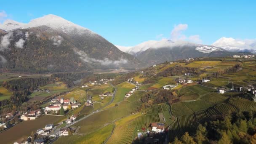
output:
[[[152,44],[152,45],[151,45]],[[145,46],[146,45],[146,46]],[[148,41],[131,48],[128,53],[136,56],[146,64],[160,64],[164,61],[175,61],[194,57],[224,57],[232,56],[235,52],[229,52],[223,48],[190,43],[187,41]]]

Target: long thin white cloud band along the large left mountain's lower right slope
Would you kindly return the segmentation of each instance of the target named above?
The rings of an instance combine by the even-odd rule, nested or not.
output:
[[[88,63],[96,62],[102,65],[120,65],[120,64],[126,64],[128,62],[126,59],[120,59],[120,60],[110,60],[108,58],[105,58],[104,60],[94,59],[94,58],[88,57],[88,55],[84,51],[77,51],[77,50],[74,50],[74,51],[75,53],[80,55],[80,59]]]

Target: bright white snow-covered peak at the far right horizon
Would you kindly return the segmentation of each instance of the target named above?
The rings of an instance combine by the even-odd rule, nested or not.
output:
[[[256,40],[236,40],[232,37],[221,37],[212,45],[227,51],[256,53]]]

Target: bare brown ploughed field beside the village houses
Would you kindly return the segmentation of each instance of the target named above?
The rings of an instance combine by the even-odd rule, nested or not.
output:
[[[51,123],[58,123],[66,117],[45,115],[37,118],[36,120],[23,121],[12,128],[0,133],[1,144],[13,144],[21,137],[28,137],[32,131],[44,128],[45,125]]]

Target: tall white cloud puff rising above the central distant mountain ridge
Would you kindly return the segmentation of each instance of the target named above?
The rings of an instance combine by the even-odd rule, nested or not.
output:
[[[178,24],[174,26],[173,30],[171,31],[171,40],[185,40],[186,36],[182,34],[182,31],[187,30],[187,24]]]

